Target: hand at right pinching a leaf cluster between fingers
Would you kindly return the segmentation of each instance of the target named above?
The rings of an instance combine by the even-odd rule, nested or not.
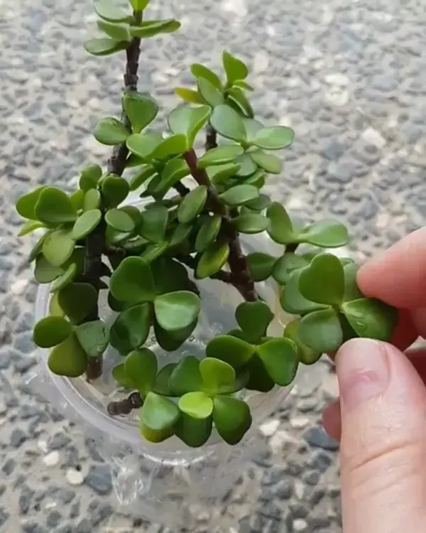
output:
[[[344,533],[426,531],[426,228],[359,270],[370,297],[400,309],[392,344],[354,339],[337,352],[339,400],[324,411],[340,440]]]

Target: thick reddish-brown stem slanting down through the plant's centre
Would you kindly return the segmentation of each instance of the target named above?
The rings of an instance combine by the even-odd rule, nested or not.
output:
[[[204,169],[197,168],[198,159],[194,149],[185,152],[183,157],[185,158],[187,166],[190,168],[192,177],[195,181],[197,181],[199,185],[207,186],[209,191],[209,204],[215,213],[222,216],[224,221],[222,226],[222,236],[229,243],[228,264],[234,278],[234,286],[236,286],[241,292],[246,301],[258,300],[254,281],[249,272],[247,258],[241,249],[238,233],[234,229],[229,208],[220,201],[216,188],[209,181],[207,172]]]

